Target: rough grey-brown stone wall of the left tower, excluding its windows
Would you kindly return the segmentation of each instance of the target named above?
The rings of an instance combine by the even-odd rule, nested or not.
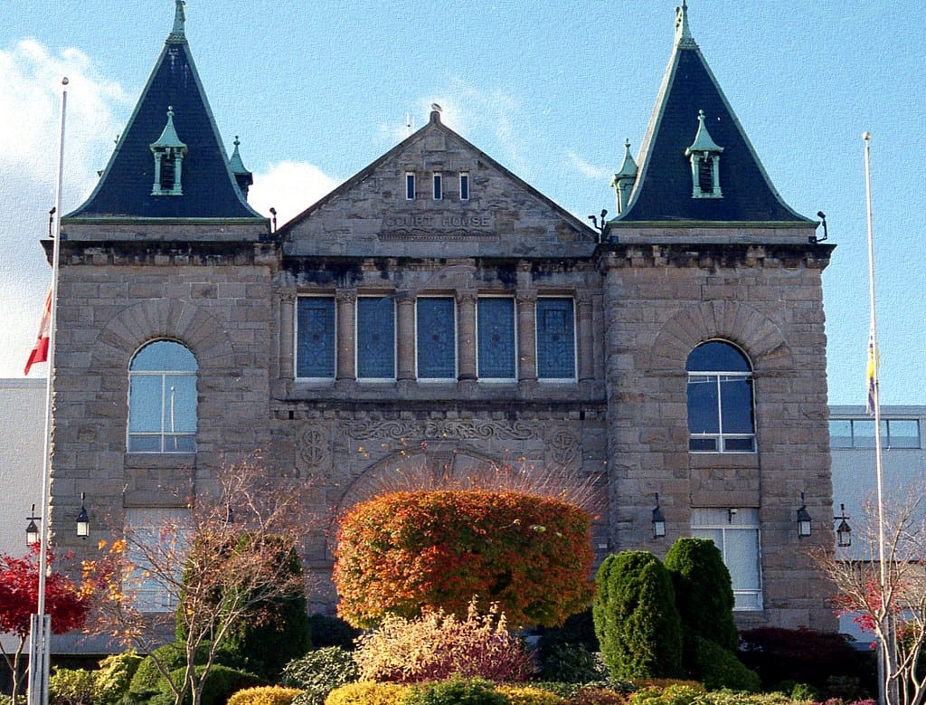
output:
[[[94,535],[106,535],[126,508],[184,506],[221,463],[267,447],[275,330],[272,266],[253,251],[198,258],[115,247],[95,257],[62,258],[52,495],[54,522],[67,523],[86,493]],[[194,454],[126,453],[129,364],[157,338],[188,346],[199,365]],[[78,561],[90,550],[67,531],[56,541]]]

